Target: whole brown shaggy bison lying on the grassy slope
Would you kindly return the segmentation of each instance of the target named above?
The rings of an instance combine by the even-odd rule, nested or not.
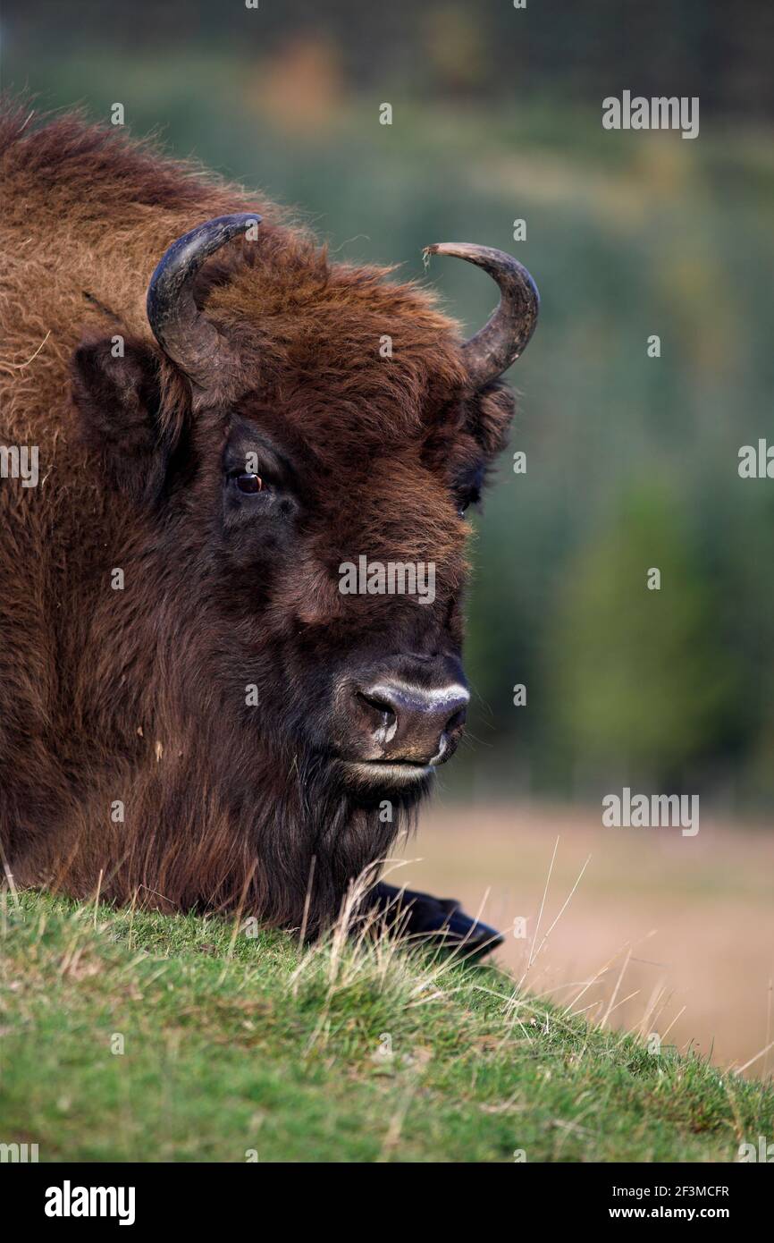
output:
[[[425,288],[121,131],[6,106],[0,158],[6,875],[311,936],[353,878],[395,902],[379,864],[463,728],[465,511],[529,273],[427,247],[499,287],[463,342]]]

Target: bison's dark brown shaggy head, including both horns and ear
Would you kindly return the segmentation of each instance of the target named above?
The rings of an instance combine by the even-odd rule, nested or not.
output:
[[[152,706],[137,694],[175,756],[204,732],[237,807],[285,778],[301,799],[317,781],[350,807],[411,804],[463,728],[465,513],[507,436],[497,380],[537,290],[501,251],[427,247],[499,287],[461,342],[425,291],[258,219],[166,250],[154,342],[76,354],[163,682]]]

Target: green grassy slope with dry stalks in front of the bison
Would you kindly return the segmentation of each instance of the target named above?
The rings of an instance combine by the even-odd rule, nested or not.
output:
[[[41,1161],[733,1161],[774,1131],[770,1088],[491,967],[31,892],[0,919],[0,1141]]]

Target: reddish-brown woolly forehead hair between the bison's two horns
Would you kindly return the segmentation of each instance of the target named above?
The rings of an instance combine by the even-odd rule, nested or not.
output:
[[[386,282],[393,271],[332,265],[324,247],[270,224],[210,261],[195,297],[250,389],[405,435],[462,393],[466,373],[455,322],[430,291]]]

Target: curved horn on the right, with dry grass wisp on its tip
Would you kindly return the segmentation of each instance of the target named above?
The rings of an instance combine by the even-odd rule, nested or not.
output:
[[[540,296],[526,267],[491,246],[466,241],[445,241],[425,246],[425,255],[452,255],[465,259],[497,281],[499,306],[491,319],[462,347],[473,388],[483,388],[502,375],[526,349],[538,322]]]

